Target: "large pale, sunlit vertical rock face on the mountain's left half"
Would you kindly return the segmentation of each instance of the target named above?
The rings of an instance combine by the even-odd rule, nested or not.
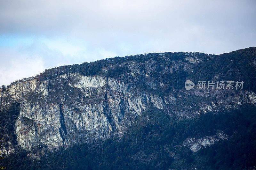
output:
[[[61,146],[107,138],[131,123],[150,107],[151,101],[157,108],[164,107],[158,96],[147,92],[136,94],[128,84],[113,78],[75,73],[56,79],[32,80],[27,82],[32,87],[22,86],[17,94],[11,91],[15,100],[22,100],[15,131],[18,144],[27,150],[41,143]],[[49,88],[50,83],[58,84],[57,88]],[[8,92],[3,96],[9,95]]]

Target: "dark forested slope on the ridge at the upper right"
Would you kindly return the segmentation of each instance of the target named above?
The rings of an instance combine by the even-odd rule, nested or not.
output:
[[[216,55],[196,65],[191,79],[212,80],[218,74],[220,80],[244,81],[244,88],[256,92],[256,48],[245,48]]]

